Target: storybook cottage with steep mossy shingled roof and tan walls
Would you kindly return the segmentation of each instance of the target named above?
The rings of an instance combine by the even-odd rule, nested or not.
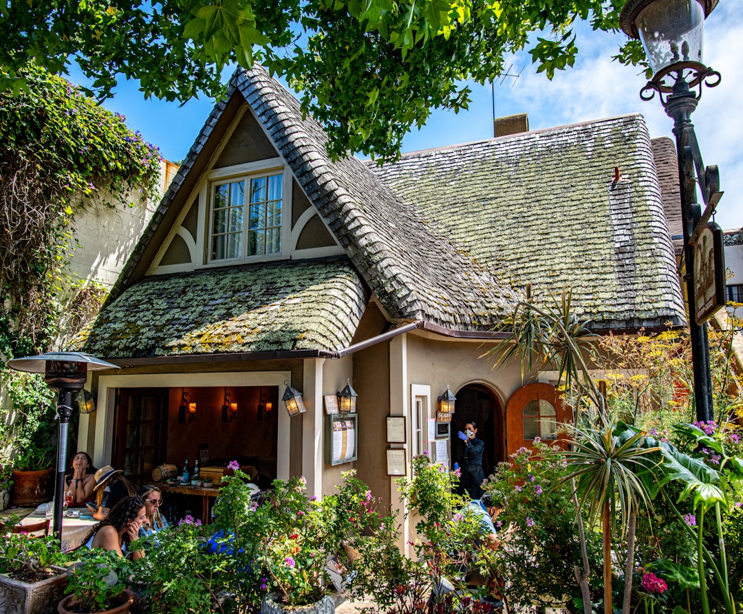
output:
[[[150,480],[207,444],[267,477],[303,474],[318,497],[356,468],[397,507],[394,474],[424,450],[459,460],[465,422],[480,425],[487,474],[567,418],[554,373],[522,379],[481,357],[526,284],[571,287],[598,333],[684,325],[640,115],[384,166],[331,161],[325,139],[262,68],[233,76],[75,344],[120,365],[92,376],[97,411],[80,419],[98,466]],[[357,412],[339,422],[324,397],[349,381]],[[297,417],[288,385],[307,409]],[[436,422],[447,386],[450,434]]]

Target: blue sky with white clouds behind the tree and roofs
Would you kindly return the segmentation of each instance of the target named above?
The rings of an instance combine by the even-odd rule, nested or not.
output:
[[[716,221],[724,229],[743,226],[743,13],[739,2],[722,0],[704,24],[704,62],[722,75],[716,88],[704,92],[692,121],[704,163],[720,168],[725,194],[718,205]],[[493,108],[496,117],[527,113],[531,129],[550,128],[602,117],[641,113],[652,137],[672,137],[672,120],[658,99],[643,102],[640,88],[646,79],[636,68],[611,62],[623,35],[577,30],[580,49],[574,68],[558,71],[552,81],[536,74],[531,56],[513,56],[511,74],[490,85],[473,85],[470,110],[454,114],[435,111],[421,131],[408,134],[403,151],[455,145],[492,137]],[[72,77],[74,81],[74,76]],[[134,83],[122,82],[105,106],[127,117],[132,130],[139,130],[160,147],[169,160],[186,156],[213,101],[196,99],[179,107],[173,102],[145,100]]]

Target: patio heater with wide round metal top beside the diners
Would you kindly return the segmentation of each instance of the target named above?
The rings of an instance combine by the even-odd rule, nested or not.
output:
[[[44,373],[51,391],[57,393],[56,411],[59,414],[59,435],[56,444],[56,478],[54,481],[53,532],[62,540],[62,508],[65,497],[65,468],[67,466],[67,437],[72,417],[72,397],[82,390],[88,371],[118,369],[110,362],[79,352],[50,352],[27,358],[14,358],[7,366],[26,373]]]

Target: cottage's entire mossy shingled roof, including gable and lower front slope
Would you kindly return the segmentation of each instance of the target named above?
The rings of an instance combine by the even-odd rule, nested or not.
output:
[[[175,218],[171,206],[195,189],[244,101],[350,264],[343,272],[332,263],[285,261],[144,277],[148,254]],[[325,138],[262,68],[236,72],[78,346],[108,358],[337,350],[353,336],[365,284],[392,319],[450,330],[489,330],[510,313],[516,289],[530,281],[553,293],[573,287],[577,313],[596,328],[683,323],[640,116],[415,152],[381,168],[355,157],[331,161]],[[615,166],[623,176],[612,182]],[[317,286],[307,281],[306,267],[316,267]],[[279,275],[308,310],[288,309],[293,303],[279,287],[265,285],[262,270]],[[345,290],[335,285],[338,275]],[[328,284],[336,308],[348,301],[340,330],[330,330],[337,323],[321,325],[321,315],[334,316],[321,299],[308,299]],[[232,297],[234,288],[253,286],[260,296],[241,290]],[[196,287],[204,292],[191,290]],[[271,314],[276,321],[266,319]],[[259,321],[269,324],[256,326]],[[314,334],[311,326],[317,326]]]

